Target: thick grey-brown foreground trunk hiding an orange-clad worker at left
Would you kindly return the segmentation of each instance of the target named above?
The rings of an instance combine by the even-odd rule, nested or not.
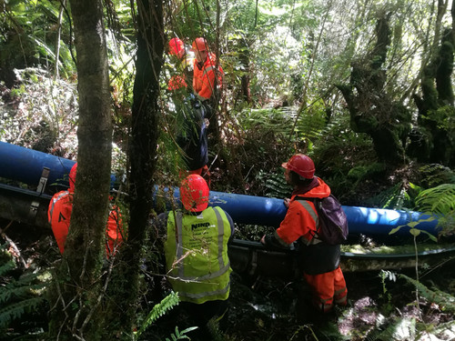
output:
[[[71,0],[70,5],[79,90],[78,165],[65,254],[51,293],[50,334],[99,340],[112,148],[106,37],[101,1]]]

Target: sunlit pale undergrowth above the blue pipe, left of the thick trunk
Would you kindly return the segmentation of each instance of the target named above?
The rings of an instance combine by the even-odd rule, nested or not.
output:
[[[76,84],[55,81],[41,69],[16,70],[20,86],[3,88],[0,139],[72,158],[76,155]]]

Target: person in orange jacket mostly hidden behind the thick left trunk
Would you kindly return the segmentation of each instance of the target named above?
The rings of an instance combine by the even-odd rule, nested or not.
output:
[[[69,173],[69,189],[56,193],[49,203],[47,218],[56,237],[56,243],[63,255],[65,251],[66,236],[68,235],[71,212],[73,211],[73,196],[75,193],[77,163]],[[116,249],[123,241],[123,227],[120,213],[117,208],[109,213],[106,224],[106,255],[114,255]]]

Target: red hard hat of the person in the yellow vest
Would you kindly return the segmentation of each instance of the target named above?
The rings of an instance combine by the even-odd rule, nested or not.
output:
[[[180,185],[180,198],[188,211],[201,212],[208,206],[208,186],[202,176],[187,176]]]

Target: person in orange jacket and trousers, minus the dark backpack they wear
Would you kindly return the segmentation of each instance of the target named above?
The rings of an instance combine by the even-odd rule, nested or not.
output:
[[[301,250],[300,266],[313,292],[312,304],[323,313],[334,304],[346,306],[348,289],[339,268],[340,248],[318,238],[318,213],[307,197],[323,198],[330,195],[330,187],[314,176],[313,161],[302,154],[293,155],[282,165],[285,178],[294,187],[290,199],[285,199],[288,212],[273,235],[263,236],[262,244],[270,247],[289,247],[298,241]]]

